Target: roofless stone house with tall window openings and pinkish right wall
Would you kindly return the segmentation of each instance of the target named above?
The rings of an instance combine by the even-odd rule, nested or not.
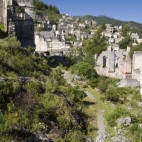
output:
[[[131,61],[127,56],[127,51],[103,51],[97,59],[97,73],[122,79],[125,74],[131,73]]]

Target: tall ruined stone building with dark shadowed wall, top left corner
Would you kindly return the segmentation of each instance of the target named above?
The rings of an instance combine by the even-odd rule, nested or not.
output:
[[[34,46],[33,18],[33,0],[3,0],[5,31],[24,47]]]

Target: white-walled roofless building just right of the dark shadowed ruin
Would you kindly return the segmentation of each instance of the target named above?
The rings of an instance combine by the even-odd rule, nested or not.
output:
[[[70,52],[70,46],[64,40],[59,40],[58,32],[41,31],[35,34],[35,45],[37,53],[47,53],[50,55],[60,55]]]

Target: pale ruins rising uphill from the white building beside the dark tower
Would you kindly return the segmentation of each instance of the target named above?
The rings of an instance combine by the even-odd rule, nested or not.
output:
[[[44,18],[45,19],[45,18]],[[91,25],[96,25],[95,21],[79,22],[79,18],[62,15],[58,25],[51,25],[50,21],[43,21],[38,24],[38,27],[46,29],[46,31],[35,32],[36,52],[50,54],[68,54],[71,47],[82,47],[84,39],[92,38],[94,31],[90,33],[81,32],[80,28],[88,28]],[[76,41],[67,42],[66,39],[75,37]]]

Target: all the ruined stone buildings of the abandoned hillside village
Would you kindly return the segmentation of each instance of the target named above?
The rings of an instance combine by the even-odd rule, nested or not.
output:
[[[38,21],[34,31],[34,20]],[[95,30],[91,26],[96,21],[84,20],[68,15],[62,15],[57,25],[51,25],[44,13],[36,15],[33,10],[33,0],[0,0],[0,23],[4,23],[9,37],[16,36],[22,46],[35,46],[35,52],[50,54],[69,53],[72,47],[82,48],[82,41],[91,39]],[[39,24],[40,23],[40,24]],[[39,30],[44,29],[44,31]],[[87,30],[82,29],[89,29]],[[95,55],[96,70],[99,75],[122,79],[118,86],[142,88],[142,52],[134,52],[133,60],[129,58],[130,47],[120,49],[119,42],[122,26],[106,24],[102,35],[107,37],[108,48],[99,56]],[[137,33],[129,33],[133,46],[142,42]],[[66,39],[76,38],[75,41]],[[142,89],[141,93],[142,93]]]

